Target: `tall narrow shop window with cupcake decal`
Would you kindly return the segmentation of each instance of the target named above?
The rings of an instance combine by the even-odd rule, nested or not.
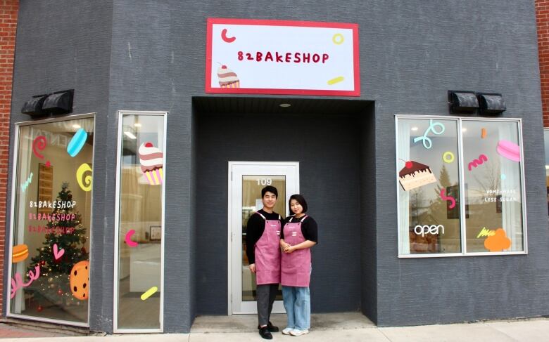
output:
[[[120,115],[115,331],[162,331],[165,118]]]

